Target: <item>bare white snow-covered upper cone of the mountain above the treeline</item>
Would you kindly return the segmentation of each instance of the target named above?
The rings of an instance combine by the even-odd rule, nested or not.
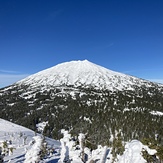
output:
[[[133,89],[134,85],[149,85],[150,82],[129,75],[114,72],[87,60],[58,64],[31,75],[17,84],[30,85],[30,88],[49,86],[94,87],[95,89]]]

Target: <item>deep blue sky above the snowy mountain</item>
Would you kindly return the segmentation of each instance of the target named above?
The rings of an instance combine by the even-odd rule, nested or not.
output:
[[[163,1],[0,1],[0,87],[84,59],[162,80]]]

